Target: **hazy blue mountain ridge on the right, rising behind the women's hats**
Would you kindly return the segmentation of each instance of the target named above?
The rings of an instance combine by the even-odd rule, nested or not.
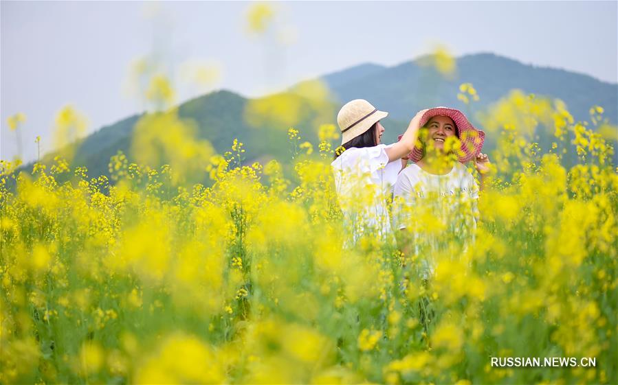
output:
[[[457,100],[457,93],[461,83],[471,82],[481,96],[476,108],[485,108],[511,89],[522,89],[526,93],[563,100],[578,119],[587,119],[588,109],[597,104],[604,107],[610,121],[618,121],[618,85],[589,75],[525,65],[514,59],[483,53],[457,59],[456,75],[452,80],[445,80],[419,65],[421,59],[339,83],[333,87],[334,93],[340,102],[362,97],[387,109],[394,118],[409,119],[415,110],[428,106],[465,108]]]

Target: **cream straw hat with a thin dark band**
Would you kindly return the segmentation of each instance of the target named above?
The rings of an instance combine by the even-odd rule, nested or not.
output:
[[[341,129],[341,144],[347,143],[384,119],[388,113],[380,111],[364,99],[347,102],[337,115]]]

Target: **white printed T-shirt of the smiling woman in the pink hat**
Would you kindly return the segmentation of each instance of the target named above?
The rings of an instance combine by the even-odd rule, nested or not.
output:
[[[458,238],[464,248],[474,242],[478,185],[465,165],[457,162],[444,175],[409,165],[397,177],[393,200],[393,222],[397,229],[412,229],[425,277],[434,270],[434,255],[448,248],[450,240]]]

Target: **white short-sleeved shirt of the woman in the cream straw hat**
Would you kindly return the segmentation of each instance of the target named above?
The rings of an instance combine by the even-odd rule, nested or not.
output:
[[[387,200],[401,170],[401,161],[389,162],[386,148],[349,148],[331,163],[339,203],[353,242],[366,231],[391,237]]]

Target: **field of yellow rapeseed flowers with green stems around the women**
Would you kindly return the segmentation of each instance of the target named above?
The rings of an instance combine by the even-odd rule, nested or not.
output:
[[[135,131],[168,130],[168,164],[118,154],[108,180],[60,158],[32,174],[3,161],[0,383],[615,384],[618,177],[601,113],[575,122],[521,93],[488,111],[496,170],[475,241],[419,215],[443,244],[426,281],[426,250],[371,235],[343,247],[331,125],[316,152],[289,130],[294,176],[243,164],[238,141],[214,154],[174,110]]]

